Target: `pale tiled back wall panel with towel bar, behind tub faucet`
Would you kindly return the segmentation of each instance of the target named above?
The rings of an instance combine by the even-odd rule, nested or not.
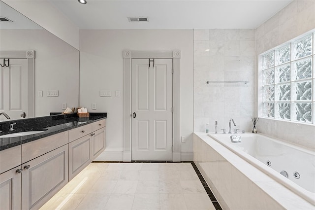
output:
[[[255,30],[194,30],[194,132],[228,128],[250,131],[255,102]],[[210,83],[206,81],[250,81]],[[221,132],[221,130],[220,130]]]

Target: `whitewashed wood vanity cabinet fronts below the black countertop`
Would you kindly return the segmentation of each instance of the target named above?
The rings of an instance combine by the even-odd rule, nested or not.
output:
[[[106,120],[0,151],[0,210],[39,209],[105,149]]]

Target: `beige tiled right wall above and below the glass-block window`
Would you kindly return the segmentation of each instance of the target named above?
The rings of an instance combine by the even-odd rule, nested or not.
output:
[[[315,0],[292,1],[256,29],[257,60],[259,54],[313,29]],[[260,133],[315,149],[315,125],[260,119],[257,129]]]

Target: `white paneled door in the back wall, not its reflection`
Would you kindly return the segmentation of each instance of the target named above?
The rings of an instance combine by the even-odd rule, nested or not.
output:
[[[132,160],[172,160],[173,61],[132,59]]]

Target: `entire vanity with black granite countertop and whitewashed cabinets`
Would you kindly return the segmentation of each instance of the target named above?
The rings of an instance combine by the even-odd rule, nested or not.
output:
[[[1,124],[0,209],[44,205],[104,151],[106,118],[107,113],[90,113],[88,119],[61,114]],[[29,131],[41,132],[1,138]]]

